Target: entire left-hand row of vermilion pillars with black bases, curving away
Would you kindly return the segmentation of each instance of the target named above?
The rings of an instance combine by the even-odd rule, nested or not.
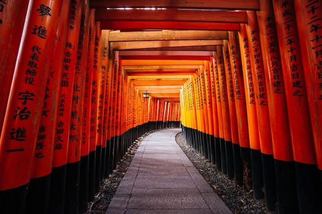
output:
[[[88,1],[0,9],[0,212],[83,213],[132,142],[180,126],[180,104],[142,98]]]

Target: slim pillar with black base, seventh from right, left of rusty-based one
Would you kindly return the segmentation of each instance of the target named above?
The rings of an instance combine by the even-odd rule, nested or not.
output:
[[[231,127],[231,140],[232,140],[232,154],[234,160],[234,178],[235,182],[239,185],[243,184],[243,163],[241,160],[241,151],[239,146],[238,123],[236,113],[236,97],[234,89],[234,72],[232,68],[234,64],[230,64],[230,54],[228,50],[228,41],[224,40],[223,44],[224,63],[226,68],[226,85],[228,94],[229,105],[229,118]],[[231,173],[232,174],[232,173]]]

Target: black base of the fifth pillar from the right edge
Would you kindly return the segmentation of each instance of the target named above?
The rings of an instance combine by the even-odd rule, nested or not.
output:
[[[264,181],[262,171],[262,157],[260,150],[251,149],[252,157],[252,177],[253,177],[253,196],[258,201],[264,200]]]

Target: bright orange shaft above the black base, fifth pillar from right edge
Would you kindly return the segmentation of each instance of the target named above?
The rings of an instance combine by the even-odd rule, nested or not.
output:
[[[241,24],[238,33],[240,44],[240,55],[242,62],[243,81],[245,87],[245,101],[247,110],[247,123],[249,134],[249,147],[260,150],[258,123],[256,113],[255,88],[251,66],[251,53],[249,52],[249,41],[245,24]]]

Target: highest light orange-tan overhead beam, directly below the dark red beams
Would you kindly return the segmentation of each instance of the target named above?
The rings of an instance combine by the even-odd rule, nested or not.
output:
[[[111,31],[110,42],[153,40],[228,40],[227,31],[162,30],[162,31]]]

